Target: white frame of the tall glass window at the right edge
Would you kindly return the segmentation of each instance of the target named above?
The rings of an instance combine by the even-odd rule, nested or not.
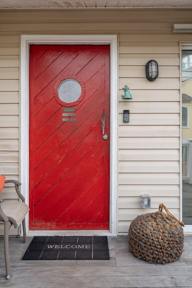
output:
[[[192,41],[179,41],[180,58],[180,115],[182,115],[182,50],[192,50]],[[182,117],[180,117],[180,127],[182,127]],[[186,127],[184,127],[186,128]],[[182,221],[182,129],[180,129],[180,221]],[[192,232],[192,225],[185,225],[184,232]]]

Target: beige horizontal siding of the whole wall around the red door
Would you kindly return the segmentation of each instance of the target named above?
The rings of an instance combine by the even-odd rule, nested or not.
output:
[[[191,23],[191,13],[191,9],[179,8],[1,10],[1,174],[19,179],[19,33],[118,34],[118,232],[126,234],[131,220],[156,211],[160,202],[179,218],[179,41],[192,41],[192,35],[173,33],[172,24],[178,19]],[[145,64],[150,59],[159,64],[159,77],[154,82],[145,77]],[[122,100],[125,85],[133,100]],[[130,110],[126,124],[122,120],[125,109]],[[17,199],[9,186],[2,195]],[[141,209],[144,193],[152,196],[150,210]]]

